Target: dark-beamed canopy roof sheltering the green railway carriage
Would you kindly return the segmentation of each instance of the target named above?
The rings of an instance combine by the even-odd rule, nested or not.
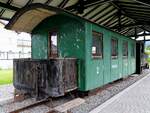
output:
[[[0,18],[10,20],[16,11],[32,3],[65,9],[127,36],[136,37],[142,31],[150,32],[148,0],[1,0]],[[47,12],[45,16],[53,13]]]

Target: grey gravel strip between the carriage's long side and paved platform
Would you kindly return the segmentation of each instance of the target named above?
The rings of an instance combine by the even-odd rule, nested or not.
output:
[[[96,95],[86,97],[86,102],[76,108],[71,109],[71,113],[88,113],[114,95],[118,94],[123,89],[129,87],[131,84],[146,76],[149,72],[149,70],[144,70],[143,74],[139,76],[129,76],[128,78],[112,83],[112,86],[98,92]]]

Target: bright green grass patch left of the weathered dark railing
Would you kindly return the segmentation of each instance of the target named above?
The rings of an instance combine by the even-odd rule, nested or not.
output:
[[[0,85],[11,84],[13,79],[13,71],[10,70],[0,70]]]

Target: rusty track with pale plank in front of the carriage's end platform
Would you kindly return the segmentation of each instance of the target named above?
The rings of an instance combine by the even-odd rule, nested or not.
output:
[[[40,112],[37,109],[41,109],[44,106],[44,108],[46,108],[45,110],[46,113],[57,113],[57,111],[60,111],[61,113],[61,111],[64,111],[64,110],[67,111],[68,109],[78,106],[78,104],[82,104],[84,101],[85,101],[84,99],[68,94],[64,97],[47,98],[47,99],[43,99],[40,101],[36,101],[28,105],[18,107],[13,110],[10,109],[8,112],[9,113],[22,113],[22,112],[30,113],[33,111],[34,113],[37,113],[37,112]],[[35,110],[37,110],[37,112]],[[43,113],[42,110],[41,112]]]

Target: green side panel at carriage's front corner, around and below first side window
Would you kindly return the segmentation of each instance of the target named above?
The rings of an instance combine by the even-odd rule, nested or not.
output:
[[[97,86],[103,85],[103,59],[92,58],[92,30],[99,32],[97,26],[92,26],[90,23],[86,23],[86,87],[85,90],[97,88]]]

